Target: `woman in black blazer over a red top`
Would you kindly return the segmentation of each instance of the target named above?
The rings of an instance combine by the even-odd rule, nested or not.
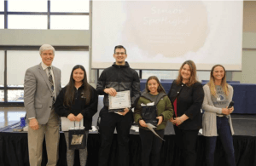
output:
[[[194,166],[195,144],[202,126],[201,105],[204,91],[201,83],[196,80],[196,67],[192,60],[183,62],[168,96],[174,109],[170,121],[174,126],[177,144],[183,149],[183,165]]]

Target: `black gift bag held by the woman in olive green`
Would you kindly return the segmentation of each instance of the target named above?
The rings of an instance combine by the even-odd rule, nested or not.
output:
[[[157,126],[157,108],[156,106],[142,106],[142,117],[145,123],[151,123]]]

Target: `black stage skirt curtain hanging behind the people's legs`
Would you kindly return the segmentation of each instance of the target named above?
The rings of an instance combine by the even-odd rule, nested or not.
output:
[[[160,166],[181,166],[183,158],[181,150],[175,143],[175,135],[165,135],[161,149]],[[233,137],[236,166],[256,166],[256,137],[234,136]],[[90,134],[88,137],[88,159],[87,166],[96,166],[100,147],[100,136]],[[205,166],[205,140],[203,136],[197,141],[197,163]],[[63,133],[60,137],[58,166],[66,166],[66,141]],[[109,166],[118,166],[118,142],[117,135],[113,136],[112,150],[109,154]],[[139,135],[130,135],[130,165],[141,165],[141,140]],[[44,145],[42,166],[47,163],[47,154]],[[1,166],[29,166],[27,134],[0,132],[0,165]],[[75,153],[75,164],[79,165],[79,152]],[[227,165],[224,157],[224,149],[220,140],[217,141],[215,152],[215,165]]]

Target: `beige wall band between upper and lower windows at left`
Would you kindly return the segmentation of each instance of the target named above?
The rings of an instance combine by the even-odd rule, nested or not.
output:
[[[88,46],[90,31],[82,30],[0,30],[0,45]]]

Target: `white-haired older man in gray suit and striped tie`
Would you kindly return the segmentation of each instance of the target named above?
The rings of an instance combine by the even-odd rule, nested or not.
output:
[[[27,69],[24,80],[29,162],[31,166],[41,165],[45,135],[47,166],[53,166],[58,160],[60,123],[53,104],[61,90],[61,70],[51,66],[55,57],[55,49],[51,45],[42,45],[39,52],[42,62]]]

